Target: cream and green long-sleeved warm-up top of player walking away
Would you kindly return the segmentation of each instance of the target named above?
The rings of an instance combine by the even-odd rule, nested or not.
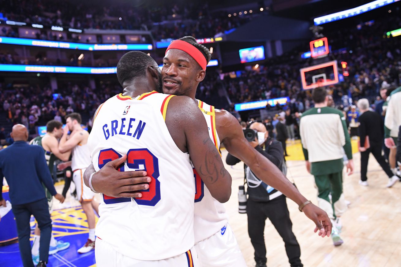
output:
[[[343,149],[352,159],[351,140],[342,111],[332,107],[313,107],[300,120],[300,136],[305,160],[314,175],[342,171]]]

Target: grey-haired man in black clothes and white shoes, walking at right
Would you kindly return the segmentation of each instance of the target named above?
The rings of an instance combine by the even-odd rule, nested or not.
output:
[[[360,137],[360,181],[362,186],[368,186],[367,168],[369,154],[372,153],[381,168],[389,176],[387,187],[393,186],[398,181],[398,177],[393,175],[389,164],[381,154],[381,144],[383,143],[383,127],[381,117],[378,113],[369,110],[369,101],[366,98],[358,100],[358,108],[363,114],[359,117],[359,137]],[[365,148],[365,142],[369,137],[369,148]]]

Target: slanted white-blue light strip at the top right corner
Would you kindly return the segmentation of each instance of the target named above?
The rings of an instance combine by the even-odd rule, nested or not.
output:
[[[392,4],[398,2],[399,0],[376,0],[362,6],[357,6],[356,8],[347,9],[344,11],[336,12],[333,14],[329,14],[326,16],[321,16],[318,18],[314,18],[313,21],[315,25],[325,24],[328,22],[333,22],[336,20],[342,20],[344,18],[350,18],[353,16],[357,16],[359,14],[374,10],[376,8],[380,8],[382,6],[386,6],[388,4]]]

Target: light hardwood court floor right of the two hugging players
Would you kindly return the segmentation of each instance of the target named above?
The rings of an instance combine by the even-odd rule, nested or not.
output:
[[[353,147],[355,148],[355,141]],[[288,148],[291,158],[303,156],[299,141]],[[227,155],[223,151],[223,159]],[[314,179],[305,168],[304,161],[288,161],[288,177],[294,179],[298,189],[312,202],[316,201]],[[386,188],[387,176],[373,156],[369,158],[368,187],[358,184],[360,179],[360,154],[354,153],[355,171],[344,174],[344,195],[351,202],[342,216],[344,244],[334,247],[330,238],[313,233],[314,224],[298,206],[287,199],[293,231],[301,247],[301,260],[306,267],[401,267],[401,183]],[[243,164],[226,167],[233,178],[233,193],[226,203],[230,225],[249,267],[255,266],[253,247],[247,233],[247,215],[238,213],[238,186],[243,184]],[[344,169],[345,172],[345,169]],[[290,266],[284,242],[277,231],[266,221],[265,243],[267,266]]]

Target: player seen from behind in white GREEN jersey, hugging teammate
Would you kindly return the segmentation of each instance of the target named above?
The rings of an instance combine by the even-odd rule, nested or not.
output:
[[[145,170],[150,182],[135,199],[103,194],[96,226],[97,266],[200,266],[193,249],[191,161],[221,202],[231,195],[231,176],[198,105],[189,97],[151,91],[160,87],[160,69],[151,57],[139,51],[125,54],[117,77],[124,93],[95,113],[88,140],[92,162],[100,170],[122,157],[120,171]]]

